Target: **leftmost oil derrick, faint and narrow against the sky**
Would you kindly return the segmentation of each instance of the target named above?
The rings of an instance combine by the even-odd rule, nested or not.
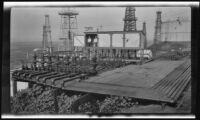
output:
[[[49,22],[49,15],[45,15],[45,24],[43,25],[43,40],[42,47],[44,50],[52,51],[52,40],[51,40],[51,26]]]

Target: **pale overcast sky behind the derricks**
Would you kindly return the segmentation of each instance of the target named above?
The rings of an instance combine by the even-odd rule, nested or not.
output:
[[[103,26],[103,30],[123,30],[125,7],[76,7],[79,33],[84,27]],[[52,41],[58,41],[60,32],[60,7],[18,7],[11,11],[11,41],[42,41],[44,15],[49,14]],[[190,7],[136,7],[137,30],[146,22],[147,39],[153,40],[156,11],[162,11],[162,21],[183,17],[190,20]]]

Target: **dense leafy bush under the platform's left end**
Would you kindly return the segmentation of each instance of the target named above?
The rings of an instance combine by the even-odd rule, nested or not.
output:
[[[11,113],[54,113],[53,89],[44,89],[34,85],[32,89],[19,91],[15,97],[11,98]]]

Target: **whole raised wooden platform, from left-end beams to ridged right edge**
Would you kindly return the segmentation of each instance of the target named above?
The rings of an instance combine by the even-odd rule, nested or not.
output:
[[[19,71],[13,77],[18,81],[34,82],[64,90],[129,96],[174,103],[189,83],[190,72],[191,63],[190,59],[187,59],[181,61],[157,60],[143,65],[128,65],[81,81],[81,75],[70,78],[63,77],[63,79],[55,81],[54,84],[52,84],[52,81],[63,75]]]

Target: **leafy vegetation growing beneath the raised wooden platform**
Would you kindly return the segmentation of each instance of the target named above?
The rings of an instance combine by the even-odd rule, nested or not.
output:
[[[11,112],[14,114],[70,114],[71,105],[81,97],[81,94],[67,95],[62,92],[56,97],[58,111],[56,111],[56,101],[54,90],[50,87],[33,85],[32,89],[19,91],[15,97],[11,98]],[[128,97],[108,96],[104,100],[87,102],[79,106],[80,113],[118,113],[123,108],[134,105],[134,101]]]

